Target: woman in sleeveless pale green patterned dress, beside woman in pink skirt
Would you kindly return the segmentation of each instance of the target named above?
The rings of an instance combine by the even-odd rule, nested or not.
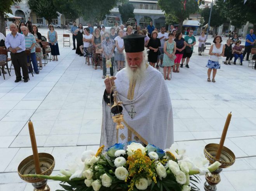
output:
[[[163,59],[163,66],[164,66],[164,79],[171,80],[169,77],[171,73],[171,66],[174,65],[175,60],[175,52],[176,52],[176,42],[173,40],[173,33],[168,34],[169,40],[165,41],[164,43],[164,59]],[[168,70],[167,70],[168,68]],[[167,77],[166,77],[167,71]]]

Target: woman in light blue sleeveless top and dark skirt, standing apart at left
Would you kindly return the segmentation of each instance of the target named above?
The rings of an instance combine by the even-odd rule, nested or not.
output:
[[[53,56],[52,61],[55,61],[55,56],[56,56],[56,61],[58,61],[57,55],[59,55],[59,45],[58,45],[58,36],[57,32],[54,31],[54,26],[52,24],[49,25],[49,31],[47,32],[47,38],[51,47],[51,54]]]

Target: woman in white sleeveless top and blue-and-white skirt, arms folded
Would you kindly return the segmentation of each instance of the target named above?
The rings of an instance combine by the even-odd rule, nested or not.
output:
[[[208,63],[205,67],[208,68],[208,71],[207,71],[207,75],[208,75],[208,78],[207,78],[207,81],[208,82],[211,82],[211,72],[212,72],[212,82],[215,82],[215,76],[216,76],[216,73],[217,73],[217,69],[220,68],[220,64],[221,64],[221,56],[224,56],[224,52],[225,52],[225,46],[224,44],[221,44],[222,42],[222,39],[221,39],[221,36],[216,36],[214,39],[213,39],[213,43],[210,50],[209,50],[209,55],[210,55],[210,58],[208,60]]]

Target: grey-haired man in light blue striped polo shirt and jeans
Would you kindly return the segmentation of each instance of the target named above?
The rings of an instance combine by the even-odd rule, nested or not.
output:
[[[33,64],[33,68],[36,74],[38,74],[38,66],[37,66],[37,56],[36,56],[36,48],[35,48],[35,44],[37,43],[35,37],[33,34],[29,33],[28,28],[27,27],[21,27],[21,31],[23,32],[23,36],[25,39],[25,46],[26,46],[26,50],[30,50],[30,58]],[[27,60],[29,62],[29,57],[27,56]],[[33,72],[33,71],[29,71]]]

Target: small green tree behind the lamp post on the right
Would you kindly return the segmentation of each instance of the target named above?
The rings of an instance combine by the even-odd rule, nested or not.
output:
[[[201,15],[204,17],[204,25],[209,22],[210,12],[211,8],[209,7],[206,7],[201,11]],[[216,31],[216,28],[221,26],[224,22],[226,22],[226,18],[221,15],[221,10],[216,5],[213,5],[210,26]],[[214,31],[212,31],[212,35],[215,34]]]

